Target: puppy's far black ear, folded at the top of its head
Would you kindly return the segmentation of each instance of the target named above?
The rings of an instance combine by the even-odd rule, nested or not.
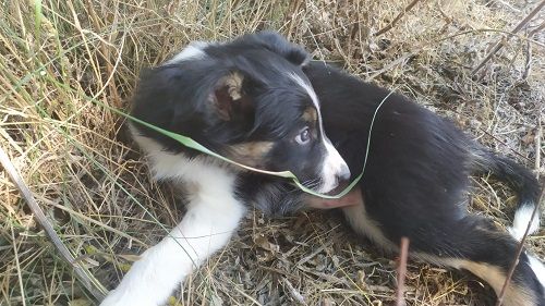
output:
[[[255,34],[261,45],[276,52],[295,65],[305,66],[311,61],[308,54],[303,48],[291,44],[280,34],[272,30],[263,30]]]

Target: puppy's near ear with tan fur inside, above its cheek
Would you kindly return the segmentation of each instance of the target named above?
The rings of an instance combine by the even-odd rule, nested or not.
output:
[[[217,83],[211,95],[211,102],[220,119],[232,121],[253,111],[254,106],[243,88],[245,78],[241,72],[233,71]]]

